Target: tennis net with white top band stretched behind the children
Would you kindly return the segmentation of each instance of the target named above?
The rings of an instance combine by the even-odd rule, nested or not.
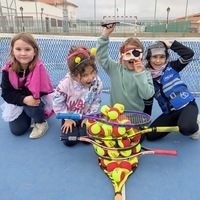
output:
[[[9,52],[10,42],[13,34],[0,34],[0,69],[6,62],[6,56]],[[34,35],[40,47],[40,58],[44,62],[50,74],[53,85],[56,86],[67,72],[66,56],[73,45],[85,45],[89,48],[96,47],[96,37],[71,37],[71,36],[48,36]],[[126,38],[110,39],[109,55],[116,61],[119,60],[119,48]],[[141,39],[144,48],[153,41],[152,39]],[[173,40],[171,40],[172,42]],[[200,39],[199,38],[181,38],[184,45],[191,47],[195,52],[192,62],[181,72],[182,79],[187,83],[191,92],[200,95]],[[177,54],[170,51],[170,58],[177,58]],[[99,76],[103,80],[104,91],[110,90],[110,79],[97,63]],[[1,76],[0,76],[1,81]]]

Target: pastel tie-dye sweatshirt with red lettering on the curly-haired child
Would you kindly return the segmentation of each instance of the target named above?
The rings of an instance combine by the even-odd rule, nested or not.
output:
[[[101,105],[102,87],[99,76],[90,87],[86,87],[67,73],[53,93],[53,110],[55,113],[96,113]]]

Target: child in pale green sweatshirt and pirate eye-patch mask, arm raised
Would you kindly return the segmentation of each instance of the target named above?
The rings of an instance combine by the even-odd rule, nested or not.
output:
[[[126,110],[144,111],[143,99],[154,94],[151,74],[142,64],[143,45],[137,38],[128,38],[120,47],[120,62],[109,56],[109,36],[115,24],[103,27],[97,40],[97,61],[111,80],[110,104],[124,104]]]

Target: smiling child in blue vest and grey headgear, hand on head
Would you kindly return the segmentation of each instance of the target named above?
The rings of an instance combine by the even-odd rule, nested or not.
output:
[[[176,52],[180,57],[168,61],[168,49]],[[182,135],[198,139],[200,137],[197,123],[197,120],[200,120],[200,118],[197,119],[198,106],[179,74],[193,56],[192,49],[176,40],[172,44],[167,40],[157,41],[147,47],[146,59],[148,63],[146,68],[153,77],[154,98],[162,110],[162,114],[150,126],[178,126]],[[152,107],[152,105],[149,106]],[[151,132],[147,133],[146,137],[152,141],[168,134],[168,132]]]

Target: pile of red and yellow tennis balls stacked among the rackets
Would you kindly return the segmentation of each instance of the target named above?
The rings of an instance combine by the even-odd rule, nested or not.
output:
[[[130,124],[131,121],[124,114],[124,110],[124,105],[121,103],[116,103],[113,107],[103,105],[100,108],[101,117],[104,120],[120,124]],[[122,181],[125,174],[138,165],[137,157],[132,159],[128,157],[141,151],[141,144],[139,143],[141,136],[134,136],[136,130],[132,127],[110,125],[94,119],[88,119],[86,126],[89,135],[104,138],[104,140],[96,139],[97,143],[108,147],[108,149],[104,149],[98,145],[93,145],[97,155],[99,155],[101,166],[111,174],[113,180],[116,182]],[[128,136],[130,134],[133,135],[130,138],[112,140],[113,138]],[[113,150],[113,148],[123,149],[126,147],[130,148],[127,150]],[[113,158],[124,159],[115,161]]]

